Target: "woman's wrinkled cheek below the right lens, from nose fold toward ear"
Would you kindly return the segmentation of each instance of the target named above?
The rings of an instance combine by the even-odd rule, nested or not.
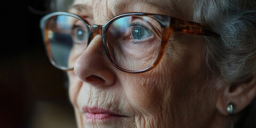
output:
[[[183,47],[175,48],[170,52],[173,54],[166,53],[159,65],[147,73],[117,75],[125,76],[119,79],[137,113],[161,118],[179,117],[178,111],[182,111],[179,108],[189,105],[188,99],[193,99],[196,90],[205,84],[201,49],[191,52],[181,50]]]

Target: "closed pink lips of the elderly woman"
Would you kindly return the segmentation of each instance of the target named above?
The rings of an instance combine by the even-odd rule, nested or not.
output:
[[[86,119],[89,120],[103,120],[110,118],[123,117],[122,115],[116,114],[110,110],[98,108],[98,107],[83,107],[82,108]]]

